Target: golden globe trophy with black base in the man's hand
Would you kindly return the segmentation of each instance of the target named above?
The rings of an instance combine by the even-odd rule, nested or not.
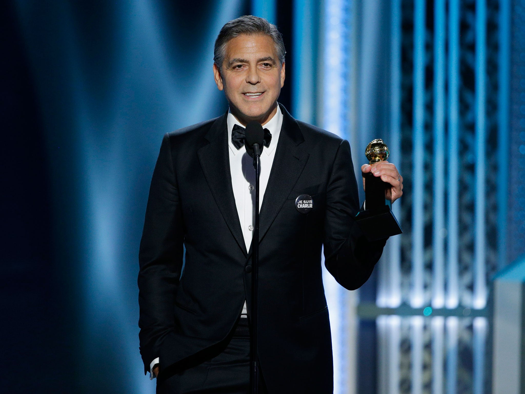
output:
[[[388,159],[388,147],[381,139],[373,140],[365,150],[370,165]],[[381,177],[374,177],[372,172],[364,175],[365,204],[364,211],[355,216],[361,231],[369,241],[385,239],[403,233],[401,226],[392,212],[392,201],[387,198],[390,184]]]

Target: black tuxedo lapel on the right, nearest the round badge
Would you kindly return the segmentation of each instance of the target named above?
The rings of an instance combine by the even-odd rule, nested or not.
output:
[[[297,121],[285,107],[280,104],[279,106],[282,111],[282,127],[259,212],[259,242],[286,202],[309,157],[308,152],[304,150],[304,138]],[[251,254],[251,246],[249,253]]]

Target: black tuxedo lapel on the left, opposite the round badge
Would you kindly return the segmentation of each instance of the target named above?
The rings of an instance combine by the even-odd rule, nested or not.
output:
[[[207,132],[209,143],[197,151],[206,182],[237,244],[247,255],[243,231],[235,205],[232,173],[228,157],[227,113],[218,118]]]

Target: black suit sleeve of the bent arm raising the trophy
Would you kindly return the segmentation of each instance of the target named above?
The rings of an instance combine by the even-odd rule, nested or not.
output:
[[[386,240],[369,242],[354,220],[359,211],[350,144],[343,140],[333,162],[327,186],[324,219],[324,264],[343,287],[361,287],[372,274]]]

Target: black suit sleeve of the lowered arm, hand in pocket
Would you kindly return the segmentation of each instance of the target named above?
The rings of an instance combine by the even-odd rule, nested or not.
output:
[[[151,180],[139,250],[139,339],[144,373],[174,328],[174,296],[181,275],[184,224],[170,138],[162,141]]]

